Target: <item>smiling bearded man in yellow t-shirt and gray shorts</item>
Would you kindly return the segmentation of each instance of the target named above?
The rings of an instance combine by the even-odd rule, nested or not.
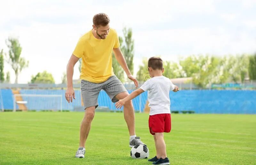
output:
[[[127,77],[138,87],[138,81],[129,71],[124,56],[120,50],[120,43],[117,33],[109,26],[109,18],[105,13],[99,13],[93,17],[92,30],[84,34],[78,41],[76,48],[71,55],[67,65],[67,91],[66,99],[68,103],[73,98],[73,73],[74,66],[79,58],[82,58],[81,67],[81,91],[84,102],[84,119],[80,127],[80,145],[76,152],[76,158],[84,158],[85,142],[88,137],[91,122],[98,106],[98,95],[100,90],[105,90],[112,100],[117,102],[128,96],[121,81],[114,75],[112,68],[112,51]],[[124,104],[124,119],[130,133],[130,147],[137,144],[145,145],[140,137],[135,134],[134,109],[132,101]]]

